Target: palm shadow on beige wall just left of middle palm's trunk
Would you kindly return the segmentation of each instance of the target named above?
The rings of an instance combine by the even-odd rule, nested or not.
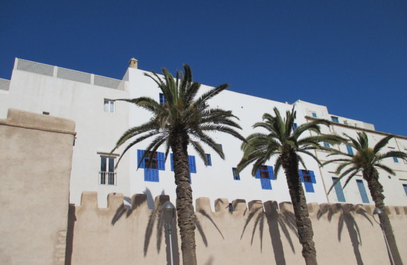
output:
[[[266,211],[264,211],[264,209],[266,209]],[[267,225],[269,225],[269,234],[271,237],[271,245],[273,246],[274,259],[276,261],[276,264],[285,265],[286,262],[284,248],[281,241],[280,227],[287,241],[289,242],[292,252],[295,253],[294,243],[292,242],[291,236],[289,234],[289,230],[291,230],[298,237],[294,213],[288,211],[281,213],[280,211],[278,211],[277,202],[265,202],[264,209],[262,206],[256,206],[250,209],[243,231],[241,232],[240,239],[243,238],[248,224],[252,220],[254,220],[250,245],[253,245],[253,239],[255,237],[255,232],[258,226],[260,234],[260,251],[262,252],[264,221],[266,220]]]

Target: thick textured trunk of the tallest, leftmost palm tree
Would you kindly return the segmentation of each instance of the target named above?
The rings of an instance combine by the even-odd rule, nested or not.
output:
[[[188,135],[178,133],[171,137],[175,184],[177,185],[177,215],[181,235],[182,264],[196,265],[195,211],[192,204],[192,188],[189,184]]]

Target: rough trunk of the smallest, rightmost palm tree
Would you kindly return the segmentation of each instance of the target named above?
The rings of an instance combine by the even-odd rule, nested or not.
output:
[[[367,180],[367,185],[370,190],[370,195],[372,195],[372,199],[374,200],[374,204],[378,209],[381,209],[382,213],[378,214],[378,218],[381,223],[381,227],[383,227],[384,234],[388,239],[390,252],[394,259],[394,264],[402,265],[403,262],[401,261],[399,248],[397,248],[396,239],[393,234],[392,224],[390,223],[390,219],[388,217],[388,213],[385,211],[385,204],[383,199],[385,196],[383,195],[383,186],[378,181],[378,172],[374,167],[364,169],[363,170],[363,178]]]

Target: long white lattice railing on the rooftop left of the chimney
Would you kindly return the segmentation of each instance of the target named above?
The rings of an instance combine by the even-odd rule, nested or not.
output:
[[[48,64],[36,63],[35,61],[16,59],[15,69],[39,75],[47,75],[49,77],[66,79],[74,82],[103,86],[109,89],[127,91],[127,82],[123,80],[102,77],[101,75],[93,75],[58,66],[49,66]]]

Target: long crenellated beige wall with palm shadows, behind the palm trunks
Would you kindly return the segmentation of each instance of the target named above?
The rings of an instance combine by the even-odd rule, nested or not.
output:
[[[159,209],[168,196],[147,209],[145,195],[133,197],[133,209],[111,194],[107,209],[97,208],[97,194],[85,192],[74,209],[72,264],[169,264],[169,241]],[[196,202],[198,264],[305,264],[289,203],[218,199]],[[372,206],[309,204],[319,264],[390,264]],[[402,259],[407,262],[407,207],[388,207]],[[377,219],[377,217],[376,217]],[[175,264],[181,257],[174,239]]]

